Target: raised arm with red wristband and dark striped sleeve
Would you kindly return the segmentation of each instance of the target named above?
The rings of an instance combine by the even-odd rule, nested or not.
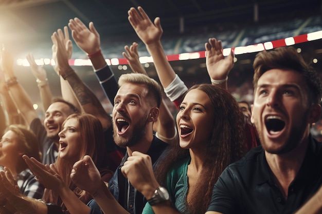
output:
[[[103,88],[106,97],[114,105],[114,97],[118,90],[117,81],[111,68],[106,64],[100,47],[100,36],[93,22],[87,28],[79,18],[69,20],[68,26],[77,46],[90,58],[95,75]]]

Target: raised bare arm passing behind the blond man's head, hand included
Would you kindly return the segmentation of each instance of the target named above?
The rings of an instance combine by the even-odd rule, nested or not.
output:
[[[137,43],[133,43],[130,47],[125,46],[124,49],[126,50],[126,52],[123,52],[122,54],[128,60],[129,65],[134,73],[142,73],[148,75],[147,71],[139,61],[137,47]],[[153,124],[153,130],[156,131],[156,135],[159,139],[171,144],[177,140],[177,132],[175,127],[176,124],[174,122],[173,116],[164,99],[162,99],[159,116]]]

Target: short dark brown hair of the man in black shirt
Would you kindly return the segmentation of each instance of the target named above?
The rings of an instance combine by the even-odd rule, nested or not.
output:
[[[280,47],[271,51],[259,52],[253,64],[254,73],[254,89],[256,91],[257,82],[261,75],[271,69],[287,69],[294,70],[303,75],[309,89],[308,96],[311,103],[319,104],[321,101],[322,85],[317,72],[309,66],[297,53],[293,47]]]

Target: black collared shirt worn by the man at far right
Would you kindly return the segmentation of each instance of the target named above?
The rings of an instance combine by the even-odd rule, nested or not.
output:
[[[288,199],[274,184],[262,146],[230,164],[214,185],[208,211],[230,213],[293,213],[322,184],[322,144],[310,136],[305,159],[291,183]]]

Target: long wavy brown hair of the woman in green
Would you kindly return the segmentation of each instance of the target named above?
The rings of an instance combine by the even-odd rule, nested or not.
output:
[[[204,153],[203,171],[192,189],[192,199],[188,201],[188,213],[205,213],[210,203],[214,183],[222,171],[246,152],[243,115],[234,97],[227,91],[210,84],[191,87],[204,91],[213,107],[212,133]],[[174,144],[166,150],[155,167],[156,179],[165,184],[171,166],[189,157],[189,149]]]

